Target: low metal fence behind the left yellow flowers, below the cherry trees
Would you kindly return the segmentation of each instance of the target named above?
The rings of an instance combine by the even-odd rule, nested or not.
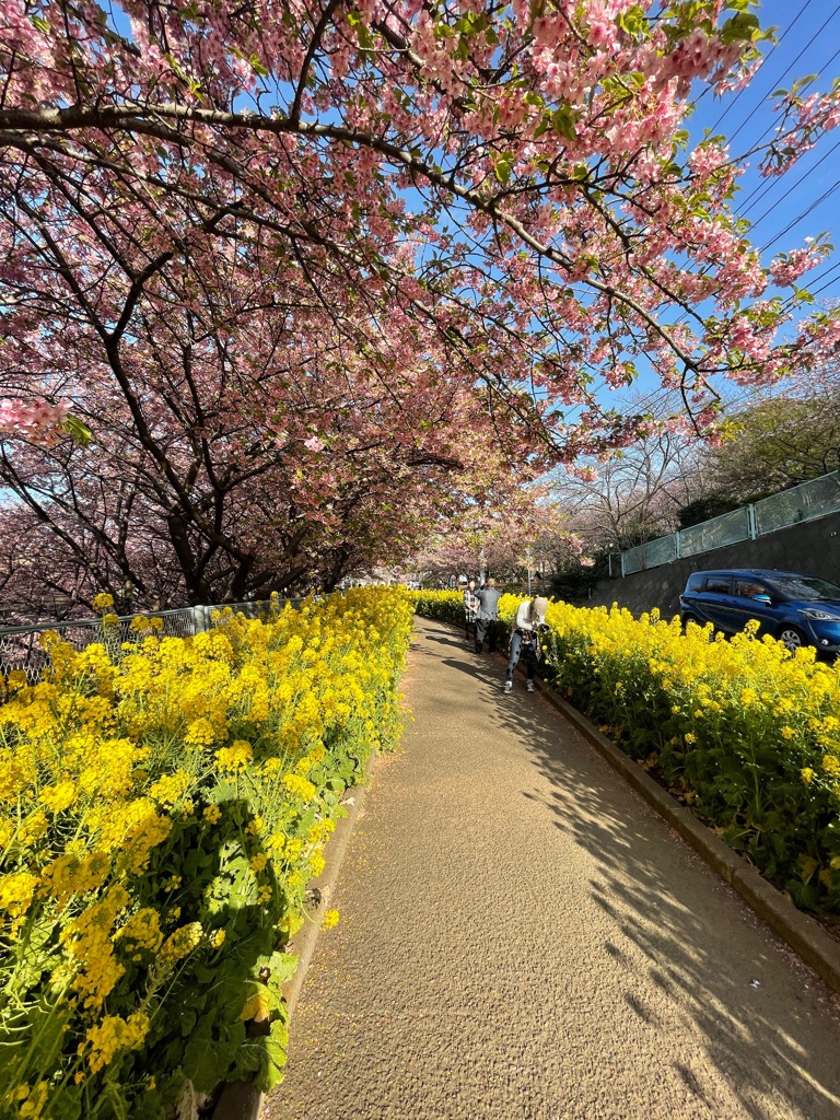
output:
[[[281,599],[281,604],[298,604],[300,599]],[[215,606],[180,607],[175,610],[151,610],[138,615],[127,615],[109,625],[102,626],[99,618],[84,618],[68,623],[41,623],[36,626],[8,626],[0,628],[0,673],[3,676],[13,671],[26,673],[27,681],[32,684],[49,665],[49,654],[41,646],[41,637],[50,632],[57,634],[74,650],[85,650],[94,642],[101,642],[112,654],[119,653],[123,642],[136,641],[140,635],[132,631],[137,617],[160,618],[162,627],[158,631],[166,637],[192,637],[208,631],[214,610],[230,608],[234,614],[246,618],[265,617],[270,603],[259,600],[253,603],[220,603]]]

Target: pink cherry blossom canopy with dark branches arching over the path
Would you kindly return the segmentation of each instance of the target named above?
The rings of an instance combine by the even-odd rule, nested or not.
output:
[[[685,140],[758,57],[721,0],[122,11],[0,27],[0,485],[67,595],[330,585],[644,437],[640,368],[711,438],[840,342],[791,290],[828,246],[765,264]],[[780,112],[767,174],[838,93]]]

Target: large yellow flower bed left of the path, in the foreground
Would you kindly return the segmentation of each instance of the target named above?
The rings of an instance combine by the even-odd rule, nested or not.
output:
[[[190,638],[52,634],[43,679],[6,680],[3,1117],[162,1118],[185,1079],[279,1076],[283,946],[344,790],[399,734],[411,613],[358,590]],[[245,1046],[254,996],[271,1029]]]

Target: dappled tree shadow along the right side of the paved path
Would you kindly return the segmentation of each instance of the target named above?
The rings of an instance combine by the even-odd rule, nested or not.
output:
[[[447,633],[440,623],[423,620],[422,626],[428,638]],[[748,1117],[782,1116],[780,1092],[784,1092],[796,1108],[791,1120],[837,1120],[840,1063],[833,1043],[840,1029],[816,1045],[811,1009],[821,1004],[828,1017],[840,1010],[838,997],[799,961],[786,973],[785,992],[774,993],[769,981],[762,987],[765,974],[778,976],[781,943],[595,748],[544,698],[529,696],[521,674],[514,691],[505,696],[501,657],[444,663],[484,685],[476,699],[493,704],[494,720],[515,731],[548,780],[548,797],[544,783],[523,790],[523,797],[544,804],[556,827],[591,856],[597,872],[587,890],[612,920],[610,935],[594,952],[609,955],[626,974],[626,986],[615,998],[642,1021],[656,1025],[636,995],[641,960],[646,978],[690,1019],[707,1060]],[[670,836],[663,837],[663,831]],[[759,946],[752,960],[738,954],[738,936],[753,950]],[[696,1096],[707,1101],[713,1117],[713,1104],[697,1073],[679,1063],[673,1068]],[[769,1109],[763,1105],[771,1101]]]

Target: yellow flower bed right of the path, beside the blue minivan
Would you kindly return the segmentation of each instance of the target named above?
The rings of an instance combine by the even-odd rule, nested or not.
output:
[[[458,592],[418,613],[463,623]],[[503,596],[508,626],[517,606]],[[757,623],[726,640],[656,610],[551,603],[543,672],[796,905],[840,913],[840,663]]]

